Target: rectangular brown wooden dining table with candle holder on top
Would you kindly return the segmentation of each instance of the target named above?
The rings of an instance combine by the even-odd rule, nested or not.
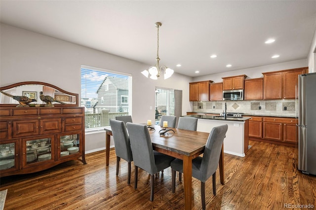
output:
[[[151,127],[151,128],[150,128]],[[166,131],[159,125],[148,126],[153,149],[183,160],[183,184],[185,209],[192,209],[192,160],[204,152],[205,144],[209,133],[199,131],[189,131],[177,128],[167,128],[164,135],[160,132]],[[106,131],[106,165],[109,166],[110,158],[110,138],[112,136],[111,126],[104,128]],[[172,130],[172,131],[171,131]],[[211,130],[211,129],[210,129]],[[220,181],[224,184],[224,148],[219,159]]]

